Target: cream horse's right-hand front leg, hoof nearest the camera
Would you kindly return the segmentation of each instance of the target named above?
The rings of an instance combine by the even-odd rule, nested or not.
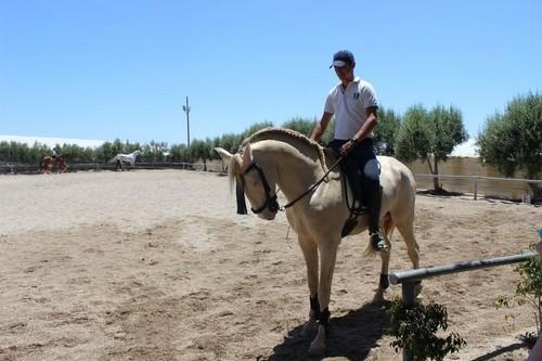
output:
[[[317,337],[312,340],[309,354],[323,356],[325,353],[327,335],[330,332],[330,298],[332,292],[333,271],[337,259],[337,247],[340,237],[337,240],[322,242],[320,248],[320,283],[318,286],[318,300],[320,304],[320,314]]]

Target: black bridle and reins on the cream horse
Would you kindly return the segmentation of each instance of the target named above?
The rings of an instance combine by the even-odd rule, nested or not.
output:
[[[340,163],[343,162],[344,157],[341,156],[340,158],[338,158],[337,162],[335,162],[333,164],[333,166],[325,172],[325,175],[318,181],[315,182],[314,184],[312,184],[307,191],[305,191],[304,193],[301,193],[297,198],[295,198],[294,201],[289,202],[288,204],[284,205],[284,206],[279,206],[279,202],[276,201],[276,193],[271,195],[271,186],[269,186],[269,182],[266,178],[266,175],[263,173],[263,169],[261,169],[260,165],[258,164],[258,162],[254,160],[253,163],[250,163],[250,165],[248,166],[248,168],[245,169],[245,171],[243,172],[243,175],[240,176],[241,178],[241,182],[238,181],[237,179],[237,184],[236,184],[236,195],[237,195],[237,214],[238,215],[246,215],[247,214],[247,210],[246,210],[246,203],[245,203],[245,178],[244,176],[246,173],[248,173],[249,171],[251,171],[253,169],[256,169],[258,171],[258,175],[260,176],[260,180],[261,180],[261,184],[263,186],[263,192],[266,193],[266,203],[263,203],[263,205],[257,209],[254,209],[254,208],[250,208],[250,210],[254,212],[254,214],[260,214],[266,208],[269,209],[270,212],[276,212],[279,210],[285,210],[286,208],[289,208],[292,207],[297,201],[301,199],[302,197],[305,197],[307,194],[309,194],[310,192],[314,191],[327,177],[327,175],[330,175],[330,172]]]

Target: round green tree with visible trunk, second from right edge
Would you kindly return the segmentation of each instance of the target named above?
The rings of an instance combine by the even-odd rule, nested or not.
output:
[[[461,111],[450,106],[435,106],[426,111],[423,105],[410,107],[403,116],[397,138],[397,156],[405,162],[421,158],[429,171],[439,175],[439,163],[448,160],[455,145],[468,139]],[[433,163],[431,163],[433,160]],[[442,190],[434,177],[435,191]]]

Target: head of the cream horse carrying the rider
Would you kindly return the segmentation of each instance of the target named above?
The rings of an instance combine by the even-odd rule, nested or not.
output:
[[[250,144],[236,154],[216,147],[222,160],[229,163],[231,184],[236,182],[237,214],[246,215],[245,194],[258,217],[272,220],[279,211],[276,202],[276,170],[264,157],[255,157]]]

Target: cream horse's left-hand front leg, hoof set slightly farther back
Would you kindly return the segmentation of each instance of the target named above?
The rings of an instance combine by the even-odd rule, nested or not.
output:
[[[309,284],[309,321],[301,330],[301,337],[310,337],[317,332],[320,305],[318,301],[318,247],[314,240],[298,235],[297,241],[307,266],[307,282]]]

